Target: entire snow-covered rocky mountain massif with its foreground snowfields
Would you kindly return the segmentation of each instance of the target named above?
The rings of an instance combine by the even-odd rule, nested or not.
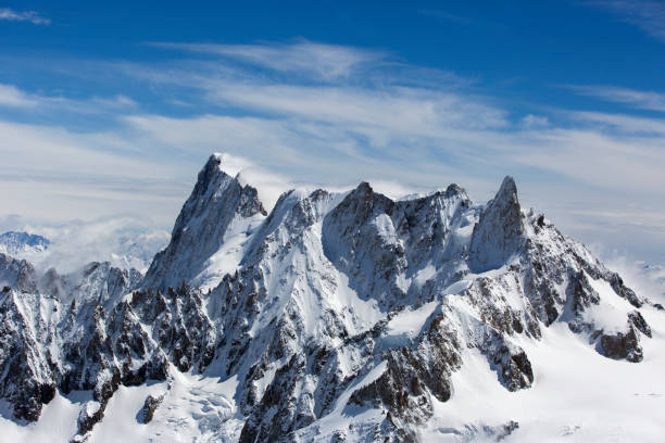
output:
[[[481,205],[363,182],[267,214],[213,155],[141,281],[0,258],[13,439],[662,435],[663,306],[524,211],[510,177]]]

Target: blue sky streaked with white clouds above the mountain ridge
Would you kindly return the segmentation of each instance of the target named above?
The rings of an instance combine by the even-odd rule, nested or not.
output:
[[[211,152],[267,200],[516,178],[665,262],[665,3],[0,4],[0,217],[170,227]],[[15,219],[15,217],[13,218]]]

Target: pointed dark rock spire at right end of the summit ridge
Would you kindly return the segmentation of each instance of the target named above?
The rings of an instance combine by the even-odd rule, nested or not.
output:
[[[474,227],[469,245],[472,270],[484,273],[500,268],[519,251],[525,239],[517,187],[515,180],[506,176]]]

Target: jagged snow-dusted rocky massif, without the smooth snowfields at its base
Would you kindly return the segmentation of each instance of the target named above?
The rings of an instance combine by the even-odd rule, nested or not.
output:
[[[221,162],[199,174],[141,282],[105,264],[37,276],[0,261],[0,364],[12,374],[0,395],[17,417],[36,420],[58,390],[90,390],[83,434],[121,384],[191,371],[238,382],[241,423],[218,418],[223,441],[415,441],[469,350],[509,391],[536,377],[516,338],[538,340],[555,322],[610,358],[643,356],[644,301],[523,212],[510,177],[487,205],[454,185],[393,201],[361,183],[289,191],[264,217],[256,190]],[[215,267],[224,254],[241,255],[231,271]],[[202,290],[200,276],[215,271]],[[624,309],[618,322],[600,315],[610,301]],[[145,422],[164,398],[146,400]],[[362,422],[328,426],[359,412]]]

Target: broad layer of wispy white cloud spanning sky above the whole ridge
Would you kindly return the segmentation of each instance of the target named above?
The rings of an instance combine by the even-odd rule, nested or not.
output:
[[[563,220],[564,231],[587,238],[599,236],[600,225],[607,238],[624,231],[639,236],[625,218],[603,216],[601,210],[633,205],[639,212],[663,198],[665,118],[593,110],[516,113],[473,80],[352,47],[302,41],[163,47],[177,58],[87,67],[113,74],[110,91],[130,83],[152,92],[148,100],[189,105],[176,111],[143,106],[146,97],[116,96],[113,106],[104,102],[109,99],[53,98],[8,87],[5,101],[24,101],[24,109],[36,101],[37,109],[58,114],[58,100],[77,100],[113,116],[116,126],[81,134],[65,121],[39,126],[0,117],[2,204],[30,215],[45,208],[81,217],[149,212],[168,226],[211,152],[249,159],[261,172],[249,181],[266,189],[285,182],[342,189],[362,179],[402,183],[401,190],[459,182],[481,202],[511,174],[523,202]],[[278,64],[279,58],[289,62]],[[67,67],[76,71],[72,63]],[[422,72],[426,79],[414,80],[413,73]],[[264,183],[265,170],[289,179]],[[275,192],[267,198],[275,199]],[[589,221],[567,206],[572,199],[599,216]],[[665,212],[654,213],[644,211],[642,225],[658,226]],[[650,233],[644,243],[662,251],[665,231]]]

